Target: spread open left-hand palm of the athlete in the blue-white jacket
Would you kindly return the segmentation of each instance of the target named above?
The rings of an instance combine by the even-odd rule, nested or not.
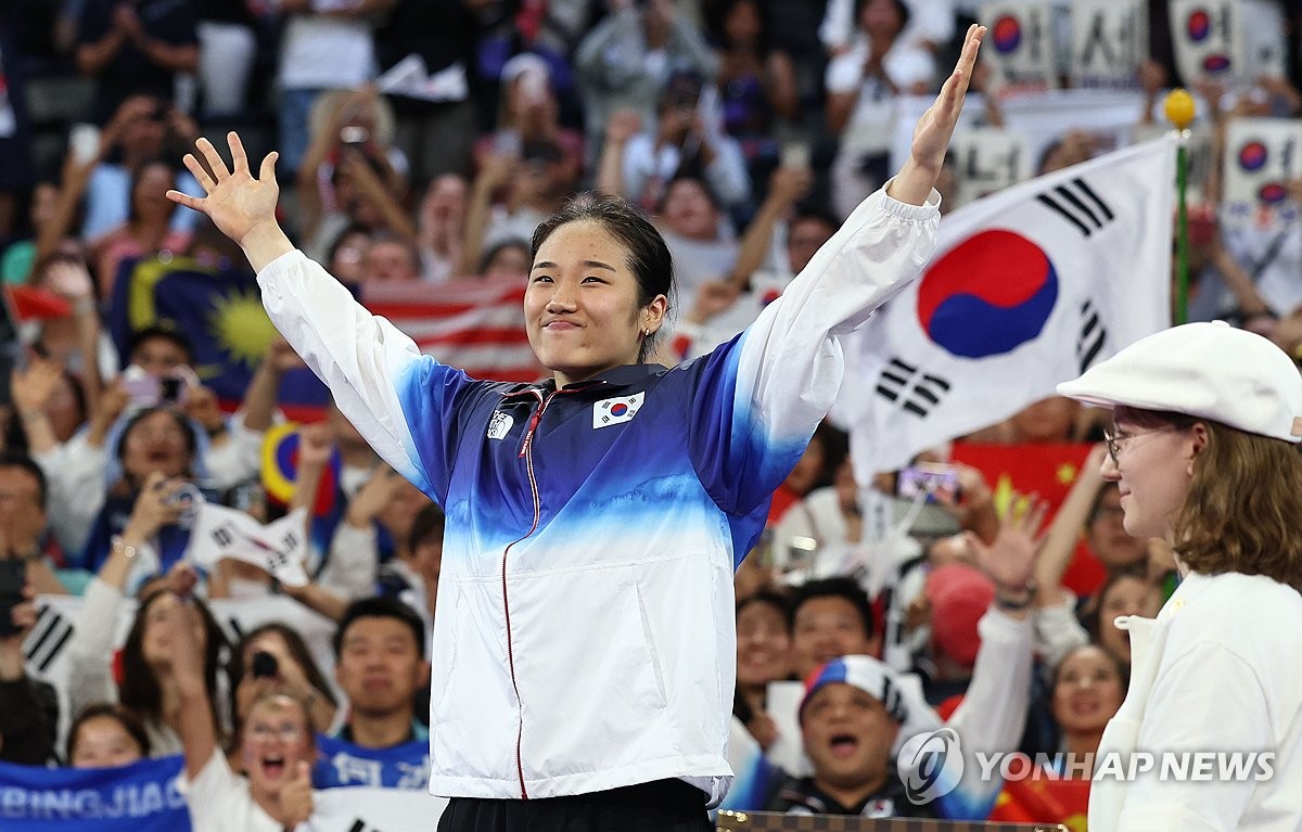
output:
[[[193,154],[185,155],[185,167],[203,186],[207,197],[189,197],[176,190],[169,190],[167,195],[172,202],[207,214],[221,233],[243,245],[249,232],[276,223],[276,199],[280,197],[280,186],[276,185],[277,154],[267,154],[258,178],[254,178],[240,137],[233,132],[228,133],[227,143],[233,161],[230,169],[206,138],[195,142],[195,147],[203,154],[207,168]]]

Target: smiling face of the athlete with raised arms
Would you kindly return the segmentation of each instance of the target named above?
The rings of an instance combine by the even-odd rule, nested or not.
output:
[[[557,228],[538,249],[525,293],[529,344],[562,387],[638,362],[643,331],[660,328],[668,301],[638,305],[628,249],[602,225]]]

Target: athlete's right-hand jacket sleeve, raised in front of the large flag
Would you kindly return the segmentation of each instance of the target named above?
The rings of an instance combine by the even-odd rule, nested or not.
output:
[[[872,194],[755,323],[689,367],[691,460],[721,509],[749,514],[799,460],[841,387],[840,337],[922,272],[939,203]]]

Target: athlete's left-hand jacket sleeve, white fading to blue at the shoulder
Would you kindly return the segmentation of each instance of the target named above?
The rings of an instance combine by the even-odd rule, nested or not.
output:
[[[422,355],[301,251],[272,260],[258,284],[272,323],[329,387],[340,411],[385,462],[443,503],[456,406],[474,383]]]

